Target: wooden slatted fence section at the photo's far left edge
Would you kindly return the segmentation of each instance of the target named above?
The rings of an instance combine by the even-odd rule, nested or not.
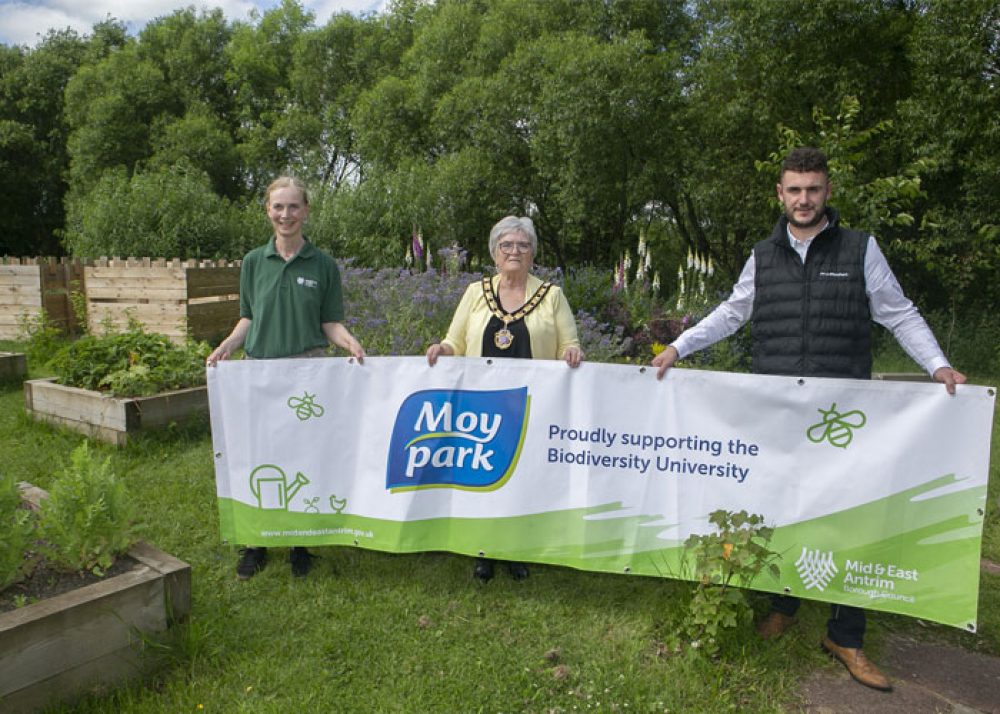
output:
[[[83,261],[51,257],[3,258],[0,260],[0,340],[20,339],[24,317],[35,317],[43,308],[62,330],[78,332],[70,293],[85,289]]]

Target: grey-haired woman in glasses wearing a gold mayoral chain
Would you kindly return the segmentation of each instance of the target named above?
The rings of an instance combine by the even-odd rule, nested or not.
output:
[[[530,218],[507,216],[490,231],[497,275],[472,283],[455,311],[448,335],[427,348],[433,367],[441,355],[562,359],[579,366],[583,351],[566,296],[531,274],[538,237]],[[528,577],[524,563],[508,563],[515,580]],[[493,561],[477,558],[473,576],[493,577]]]

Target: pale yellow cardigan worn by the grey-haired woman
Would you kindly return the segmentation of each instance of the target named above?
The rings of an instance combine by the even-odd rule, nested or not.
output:
[[[494,292],[499,283],[500,276],[493,276]],[[529,275],[526,297],[530,299],[541,285],[541,280]],[[458,356],[481,357],[483,333],[492,315],[483,297],[482,281],[477,280],[466,288],[451,319],[448,335],[441,344],[451,347]],[[562,359],[567,347],[580,346],[573,311],[557,285],[549,288],[538,306],[525,315],[524,324],[531,337],[531,356],[534,359]]]

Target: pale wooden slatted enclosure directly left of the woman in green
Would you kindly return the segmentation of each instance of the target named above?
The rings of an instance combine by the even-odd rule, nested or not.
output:
[[[240,267],[226,261],[102,258],[85,270],[87,322],[124,327],[129,315],[150,332],[183,342],[217,340],[239,319]]]

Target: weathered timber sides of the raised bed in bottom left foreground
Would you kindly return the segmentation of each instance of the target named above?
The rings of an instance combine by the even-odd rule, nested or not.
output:
[[[33,507],[47,494],[21,484]],[[191,611],[191,566],[145,542],[129,572],[0,613],[0,712],[33,712],[139,672],[138,633]]]

